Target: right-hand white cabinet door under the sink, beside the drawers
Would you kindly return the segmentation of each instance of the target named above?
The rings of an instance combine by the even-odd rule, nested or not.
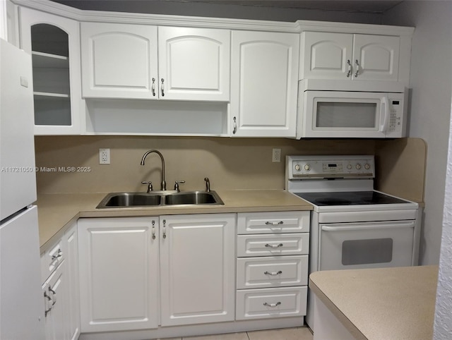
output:
[[[235,214],[160,217],[162,326],[234,320]]]

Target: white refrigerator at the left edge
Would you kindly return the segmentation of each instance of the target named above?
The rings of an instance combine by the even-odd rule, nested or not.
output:
[[[0,39],[0,340],[44,339],[31,56]]]

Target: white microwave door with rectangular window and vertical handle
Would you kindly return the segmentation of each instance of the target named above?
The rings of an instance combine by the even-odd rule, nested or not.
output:
[[[304,137],[384,138],[388,99],[381,93],[304,92]]]

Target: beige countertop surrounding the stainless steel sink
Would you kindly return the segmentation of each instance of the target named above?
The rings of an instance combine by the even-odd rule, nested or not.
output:
[[[312,210],[312,206],[285,190],[215,190],[224,205],[133,207],[96,209],[107,193],[40,194],[38,207],[41,253],[57,241],[80,217],[143,217],[164,214],[270,212]]]

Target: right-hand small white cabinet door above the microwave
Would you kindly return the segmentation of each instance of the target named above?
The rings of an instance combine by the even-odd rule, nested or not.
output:
[[[355,35],[353,45],[353,79],[398,80],[400,37]]]

